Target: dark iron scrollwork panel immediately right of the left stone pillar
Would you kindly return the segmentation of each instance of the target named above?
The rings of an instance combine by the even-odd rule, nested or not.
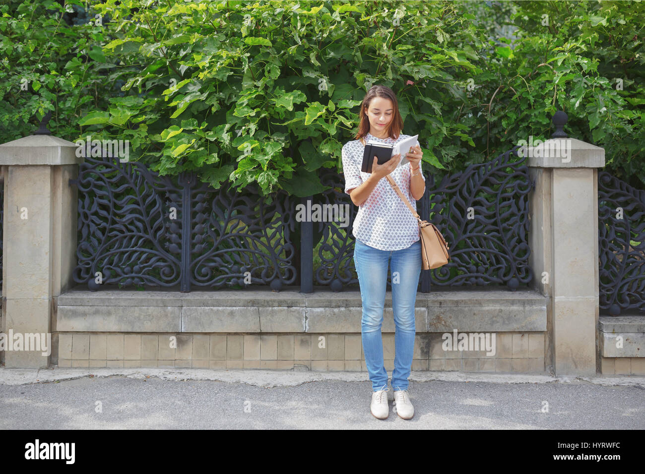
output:
[[[139,163],[86,157],[79,190],[74,281],[174,286],[181,280],[181,195]]]

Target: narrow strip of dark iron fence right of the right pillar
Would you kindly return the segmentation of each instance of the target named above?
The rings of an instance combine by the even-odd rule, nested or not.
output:
[[[600,311],[645,313],[645,191],[598,173]]]

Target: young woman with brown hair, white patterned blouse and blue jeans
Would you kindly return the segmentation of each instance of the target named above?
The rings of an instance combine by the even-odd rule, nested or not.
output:
[[[416,209],[426,189],[421,172],[421,146],[417,141],[407,157],[409,164],[397,167],[401,155],[378,164],[373,159],[372,173],[361,172],[364,143],[369,140],[395,144],[410,135],[400,134],[403,121],[392,89],[372,86],[361,103],[361,119],[356,140],[342,147],[345,192],[359,206],[353,224],[356,238],[354,264],[359,277],[362,300],[361,334],[370,380],[370,411],[378,419],[389,414],[388,373],[383,363],[381,324],[388,279],[392,270],[392,310],[394,313],[395,359],[392,372],[394,405],[397,415],[410,419],[414,408],[408,396],[408,377],[412,368],[415,338],[414,308],[421,275],[419,226],[410,209],[401,201],[386,175],[390,175],[403,195]]]

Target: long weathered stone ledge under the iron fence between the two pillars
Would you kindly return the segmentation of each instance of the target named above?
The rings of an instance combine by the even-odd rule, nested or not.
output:
[[[382,331],[394,332],[392,293]],[[546,297],[531,290],[418,293],[417,332],[546,331]],[[70,290],[58,298],[57,331],[361,333],[360,291]]]

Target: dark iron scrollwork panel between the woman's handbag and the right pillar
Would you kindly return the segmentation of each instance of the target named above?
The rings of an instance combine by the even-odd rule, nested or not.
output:
[[[528,283],[528,193],[533,188],[519,146],[435,184],[426,179],[430,219],[450,246],[448,264],[428,270],[439,286]],[[512,161],[511,161],[512,157]]]

